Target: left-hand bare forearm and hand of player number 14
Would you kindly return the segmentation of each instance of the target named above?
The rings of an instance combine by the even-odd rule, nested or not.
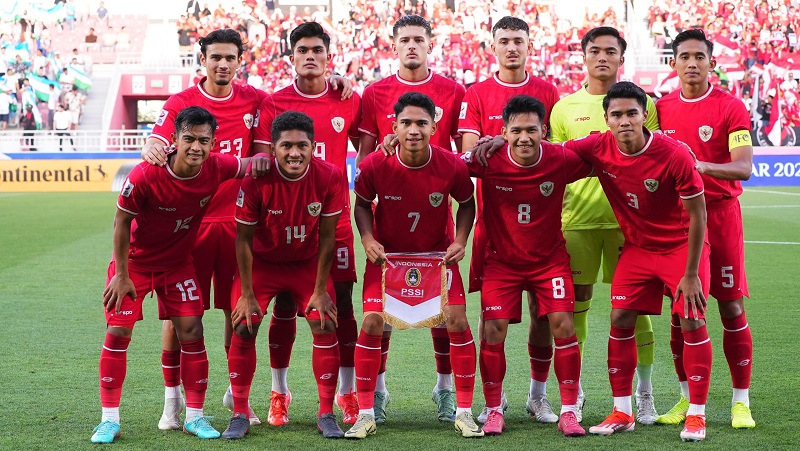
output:
[[[236,302],[236,307],[231,312],[233,328],[242,321],[246,321],[247,330],[253,333],[253,314],[259,318],[264,317],[264,312],[256,300],[253,291],[253,237],[256,233],[255,225],[236,224],[236,262],[239,265],[239,280],[241,281],[242,294]]]

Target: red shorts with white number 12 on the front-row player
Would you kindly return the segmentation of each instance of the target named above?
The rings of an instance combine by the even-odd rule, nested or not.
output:
[[[112,261],[108,264],[106,286],[116,272],[116,263]],[[136,287],[136,299],[125,296],[119,315],[115,309],[106,312],[106,323],[109,326],[133,327],[136,321],[141,321],[144,318],[142,303],[153,291],[158,297],[158,319],[203,316],[203,296],[197,286],[197,276],[191,263],[164,272],[141,271],[130,265],[128,275]]]

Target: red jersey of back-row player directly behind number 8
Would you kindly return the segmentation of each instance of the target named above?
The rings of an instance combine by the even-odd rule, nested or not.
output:
[[[512,97],[529,95],[544,104],[548,124],[550,112],[558,102],[558,90],[552,83],[527,74],[522,83],[505,83],[500,81],[498,73],[492,78],[476,83],[467,89],[464,102],[458,116],[458,131],[474,133],[478,136],[501,133],[503,128],[503,108]]]

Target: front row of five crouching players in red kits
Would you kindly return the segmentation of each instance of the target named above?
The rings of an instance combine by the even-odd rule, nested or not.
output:
[[[464,437],[499,435],[505,429],[501,401],[505,376],[503,344],[509,323],[522,315],[522,292],[535,293],[538,318],[550,323],[554,366],[561,393],[558,429],[583,436],[576,417],[580,351],[572,321],[574,293],[569,256],[561,235],[561,199],[567,184],[592,174],[599,178],[625,233],[626,245],[612,285],[609,378],[614,411],[590,432],[633,429],[631,385],[636,366],[633,324],[640,312],[660,314],[664,286],[680,315],[689,374],[685,440],[705,437],[704,407],[711,368],[711,344],[703,313],[708,287],[704,242],[703,184],[694,160],[677,141],[643,129],[646,94],[618,83],[604,101],[609,132],[568,141],[545,142],[544,106],[528,96],[511,99],[503,111],[507,144],[482,166],[471,154],[461,159],[431,146],[436,130],[430,98],[407,93],[395,105],[395,155],[366,158],[356,175],[356,224],[368,258],[364,275],[364,320],[355,366],[357,421],[346,433],[333,416],[339,367],[335,294],[329,279],[335,230],[347,203],[347,185],[333,165],[312,158],[313,124],[287,112],[272,125],[274,158],[253,159],[237,199],[236,253],[240,296],[232,321],[228,358],[233,418],[222,434],[242,438],[250,427],[250,384],[256,366],[255,339],[270,299],[291,292],[313,335],[312,367],[319,391],[318,430],[325,437],[365,438],[377,430],[373,410],[381,361],[384,318],[380,264],[388,252],[444,252],[452,270],[447,330],[455,375],[454,426]],[[158,294],[159,317],[171,319],[181,342],[181,379],[186,391],[184,430],[200,438],[220,434],[203,416],[208,359],[203,345],[203,303],[197,294],[190,249],[196,225],[219,184],[244,176],[246,159],[209,155],[215,121],[190,107],[176,119],[176,151],[166,167],[142,163],[120,193],[115,218],[114,259],[104,292],[108,331],[100,358],[103,417],[92,441],[119,436],[119,401],[126,350],[141,301]],[[272,166],[272,168],[269,168]],[[204,168],[201,171],[201,167]],[[652,178],[645,174],[650,174]],[[481,293],[484,336],[480,372],[488,417],[479,427],[472,416],[476,351],[466,317],[458,262],[464,257],[475,217],[470,176],[482,187],[489,245]],[[459,203],[454,237],[447,232],[447,202]],[[374,199],[380,199],[372,209]],[[689,223],[681,221],[688,212]],[[267,226],[268,225],[268,226]],[[688,242],[686,236],[688,235]]]

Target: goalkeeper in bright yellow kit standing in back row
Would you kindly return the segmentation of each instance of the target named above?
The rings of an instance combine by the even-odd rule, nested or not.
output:
[[[625,62],[627,43],[612,27],[589,30],[581,39],[587,83],[576,93],[561,99],[550,118],[551,142],[561,143],[608,130],[603,110],[603,98],[617,82],[619,68]],[[650,97],[647,98],[647,120],[644,126],[658,130],[658,115]],[[591,177],[571,184],[564,196],[561,213],[564,238],[570,255],[572,277],[575,281],[575,332],[578,334],[581,357],[589,336],[589,309],[592,292],[603,267],[603,282],[611,283],[624,240],[611,205],[597,178]],[[655,346],[650,317],[636,320],[638,365],[636,374],[636,420],[653,424],[658,417],[653,401],[653,362]],[[578,420],[583,419],[585,396],[579,390]]]

